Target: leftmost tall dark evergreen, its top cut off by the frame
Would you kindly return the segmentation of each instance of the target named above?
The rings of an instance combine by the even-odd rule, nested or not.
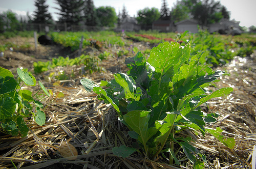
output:
[[[53,23],[52,15],[48,12],[46,0],[35,0],[36,11],[34,11],[34,23]]]

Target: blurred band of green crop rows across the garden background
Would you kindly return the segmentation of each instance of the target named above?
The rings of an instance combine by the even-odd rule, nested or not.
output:
[[[32,32],[19,32],[16,35],[22,37],[33,37]],[[39,33],[39,35],[41,35]],[[15,35],[9,35],[5,33],[4,37],[12,37]],[[201,53],[204,51],[200,63],[210,64],[211,66],[224,65],[229,60],[233,59],[236,55],[240,57],[246,57],[253,53],[256,49],[256,37],[253,34],[242,34],[241,36],[226,36],[226,35],[211,35],[207,31],[200,30],[197,34],[185,33],[183,36],[176,33],[159,33],[156,31],[140,31],[115,33],[113,31],[100,31],[100,32],[53,32],[49,36],[57,44],[61,44],[64,47],[69,47],[71,51],[79,49],[81,37],[83,37],[83,45],[93,46],[95,48],[109,48],[112,46],[122,47],[132,43],[133,41],[147,42],[149,44],[159,44],[164,41],[177,41],[182,46],[185,46],[188,42],[191,43],[193,52],[191,55]],[[16,46],[14,43],[7,42],[0,44],[0,50],[5,51],[13,48],[18,50],[19,48],[30,48],[31,44],[25,46]],[[127,51],[119,51],[118,55],[125,55]],[[62,65],[65,66],[65,65]]]

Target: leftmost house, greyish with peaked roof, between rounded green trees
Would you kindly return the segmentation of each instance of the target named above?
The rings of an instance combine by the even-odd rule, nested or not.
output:
[[[121,20],[120,26],[117,27],[116,31],[139,31],[140,25],[135,17],[126,16]]]

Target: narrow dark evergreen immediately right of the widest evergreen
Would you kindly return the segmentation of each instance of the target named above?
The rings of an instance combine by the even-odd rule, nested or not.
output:
[[[93,0],[85,1],[86,8],[84,9],[84,18],[86,19],[86,25],[88,26],[98,26],[99,19],[96,14],[96,9],[93,4]]]

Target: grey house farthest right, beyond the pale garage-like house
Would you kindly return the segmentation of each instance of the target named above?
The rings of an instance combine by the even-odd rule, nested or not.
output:
[[[226,18],[222,18],[219,22],[210,24],[209,33],[221,32],[221,31],[225,32],[230,30],[231,26],[236,27],[237,29],[240,30],[239,24],[240,24],[240,21],[236,21],[234,19],[229,20]]]

